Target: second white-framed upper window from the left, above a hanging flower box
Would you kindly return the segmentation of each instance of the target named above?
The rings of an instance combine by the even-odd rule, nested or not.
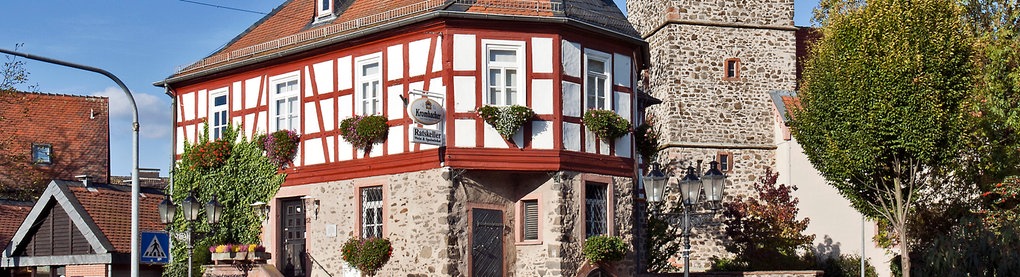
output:
[[[300,133],[301,84],[298,82],[298,74],[273,78],[270,84],[272,130],[290,129]]]

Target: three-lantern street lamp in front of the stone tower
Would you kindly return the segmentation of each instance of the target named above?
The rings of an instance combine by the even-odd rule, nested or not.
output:
[[[701,161],[699,161],[701,163]],[[694,167],[687,166],[686,173],[679,179],[677,185],[680,188],[680,203],[683,205],[683,276],[691,275],[691,214],[695,205],[701,204],[701,195],[705,193],[705,201],[709,205],[712,214],[722,208],[722,192],[726,184],[726,175],[719,171],[717,162],[709,163],[710,168],[704,175],[699,176]],[[645,195],[652,205],[662,203],[666,191],[666,184],[670,176],[659,170],[658,164],[652,164],[652,170],[642,180],[645,182]],[[704,188],[703,188],[704,186]],[[653,213],[655,213],[653,209]],[[669,215],[669,214],[667,214]]]

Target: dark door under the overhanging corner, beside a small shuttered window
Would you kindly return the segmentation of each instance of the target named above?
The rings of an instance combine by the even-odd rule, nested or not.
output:
[[[503,211],[471,209],[471,276],[503,276]]]

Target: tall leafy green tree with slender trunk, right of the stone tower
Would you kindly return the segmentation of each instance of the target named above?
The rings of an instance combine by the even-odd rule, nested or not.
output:
[[[917,193],[946,183],[959,157],[961,104],[971,88],[969,33],[950,0],[840,7],[848,6],[825,13],[794,134],[854,208],[892,226],[909,269]]]

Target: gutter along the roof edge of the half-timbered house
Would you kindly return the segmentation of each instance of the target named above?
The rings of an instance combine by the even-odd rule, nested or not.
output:
[[[648,43],[645,42],[645,40],[642,39],[642,38],[640,38],[640,37],[628,36],[628,35],[625,35],[625,34],[619,33],[619,32],[611,31],[611,30],[608,30],[608,29],[605,29],[605,27],[601,27],[601,26],[598,26],[598,25],[595,25],[595,24],[592,24],[592,23],[583,22],[583,21],[580,21],[580,20],[577,20],[577,19],[573,19],[573,18],[569,18],[569,17],[543,17],[543,16],[526,16],[526,15],[497,15],[497,14],[465,13],[465,12],[460,12],[460,11],[437,10],[437,11],[431,11],[431,12],[427,12],[427,13],[420,14],[420,15],[415,15],[415,16],[412,16],[412,17],[409,17],[409,18],[405,18],[405,19],[402,19],[402,20],[397,20],[397,21],[393,21],[393,22],[381,23],[381,24],[378,24],[378,25],[361,29],[359,31],[355,31],[355,32],[352,32],[352,33],[338,35],[336,37],[328,38],[328,39],[325,39],[325,40],[316,41],[316,42],[312,42],[312,43],[305,44],[305,45],[299,45],[299,46],[296,46],[296,47],[293,47],[293,48],[290,48],[290,49],[286,49],[286,50],[283,50],[283,51],[265,54],[265,55],[262,55],[262,56],[257,56],[258,54],[255,54],[254,57],[241,58],[241,59],[239,59],[238,61],[235,61],[235,62],[227,62],[227,63],[224,63],[224,64],[219,65],[219,66],[212,66],[212,67],[209,67],[209,68],[206,68],[206,69],[201,69],[201,70],[194,71],[194,72],[187,73],[187,74],[183,74],[183,75],[176,75],[176,73],[174,73],[174,74],[171,74],[170,76],[168,76],[167,78],[163,79],[162,81],[153,82],[152,86],[155,86],[155,87],[164,87],[165,88],[165,86],[167,84],[193,80],[193,79],[197,79],[197,78],[200,78],[200,77],[204,77],[204,76],[208,76],[208,75],[220,73],[220,72],[223,72],[223,71],[227,71],[227,70],[231,70],[231,69],[236,69],[236,68],[244,67],[244,66],[247,66],[247,65],[257,64],[257,63],[261,63],[261,62],[265,62],[265,61],[269,61],[269,60],[273,60],[273,59],[277,59],[277,58],[282,58],[282,57],[287,57],[287,56],[291,56],[291,55],[295,55],[295,54],[307,52],[309,50],[314,50],[314,49],[318,49],[318,48],[321,48],[321,47],[325,47],[325,46],[329,46],[329,45],[342,43],[342,42],[345,42],[345,41],[353,40],[353,39],[356,39],[356,38],[366,37],[368,35],[372,35],[372,34],[376,34],[376,33],[381,33],[384,31],[395,30],[395,29],[398,29],[398,27],[402,27],[402,26],[406,26],[406,25],[410,25],[410,24],[413,24],[413,23],[418,23],[418,22],[422,22],[422,21],[426,21],[426,20],[430,20],[430,19],[437,19],[437,18],[463,18],[463,19],[487,19],[487,20],[515,20],[515,21],[524,21],[524,22],[547,22],[547,23],[565,24],[565,25],[576,26],[576,27],[581,27],[581,29],[592,29],[592,30],[600,31],[603,34],[609,35],[610,37],[613,37],[613,38],[616,38],[616,39],[620,39],[620,40],[623,40],[623,41],[629,41],[629,42],[631,42],[631,43],[633,43],[635,45],[639,45],[639,46],[641,46],[641,48],[643,50],[643,53],[648,53],[649,52]],[[642,57],[642,59],[641,59],[642,60],[642,65],[644,66],[643,68],[647,68],[648,64],[649,64],[649,59],[650,58],[648,57],[648,55],[641,55],[641,57]]]

